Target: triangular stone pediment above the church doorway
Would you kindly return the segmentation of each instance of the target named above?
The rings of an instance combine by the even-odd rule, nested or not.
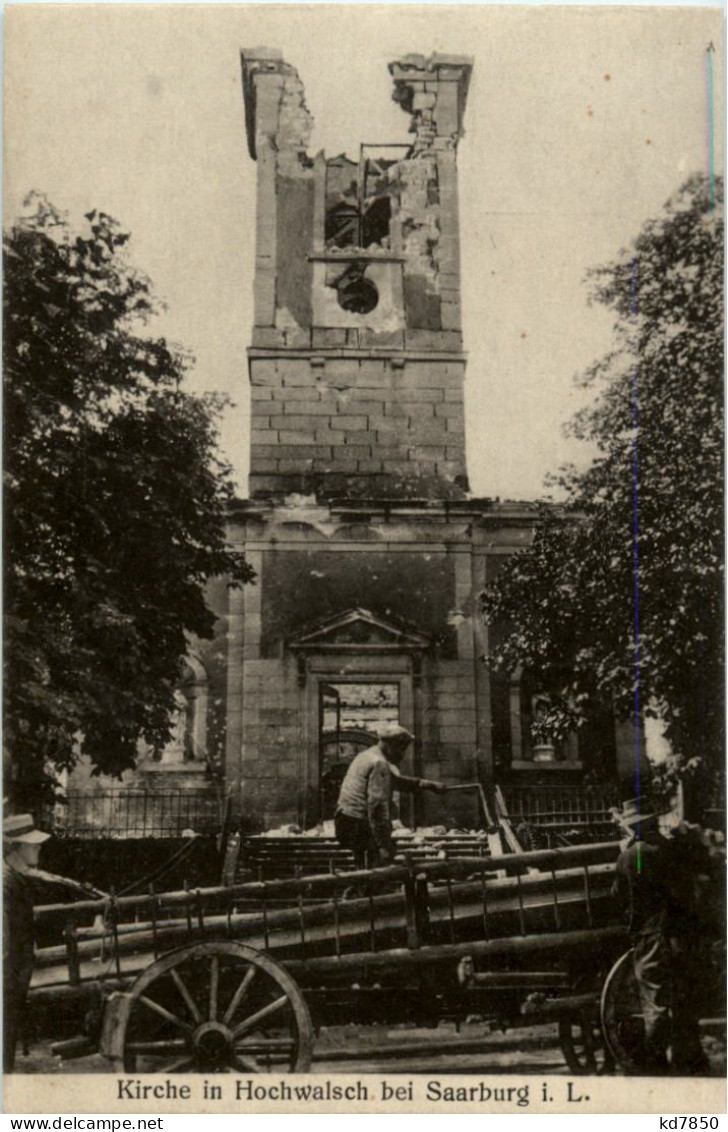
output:
[[[421,652],[429,638],[368,609],[349,609],[289,641],[293,652]]]

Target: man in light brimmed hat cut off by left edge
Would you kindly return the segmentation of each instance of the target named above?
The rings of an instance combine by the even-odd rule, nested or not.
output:
[[[2,822],[2,1062],[6,1073],[15,1065],[25,1000],[33,974],[33,882],[41,846],[50,833],[33,824],[31,814],[14,814]]]

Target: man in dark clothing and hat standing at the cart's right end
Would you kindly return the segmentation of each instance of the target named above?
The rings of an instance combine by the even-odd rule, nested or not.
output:
[[[645,1067],[651,1073],[704,1072],[696,994],[704,974],[703,860],[677,831],[665,837],[661,815],[642,813],[640,799],[614,815],[631,834],[617,860],[615,887],[629,909]]]

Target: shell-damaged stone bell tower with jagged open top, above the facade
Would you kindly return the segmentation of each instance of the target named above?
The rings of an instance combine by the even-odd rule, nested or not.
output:
[[[252,499],[463,498],[455,157],[471,69],[456,55],[391,63],[411,144],[310,157],[298,74],[277,51],[242,53]]]

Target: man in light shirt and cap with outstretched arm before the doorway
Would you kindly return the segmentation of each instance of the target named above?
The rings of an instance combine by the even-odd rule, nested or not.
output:
[[[392,844],[392,794],[445,794],[447,787],[429,779],[405,778],[400,773],[412,735],[399,723],[385,723],[379,741],[361,751],[351,762],[341,784],[334,827],[339,843],[351,849],[357,868],[388,865]]]

